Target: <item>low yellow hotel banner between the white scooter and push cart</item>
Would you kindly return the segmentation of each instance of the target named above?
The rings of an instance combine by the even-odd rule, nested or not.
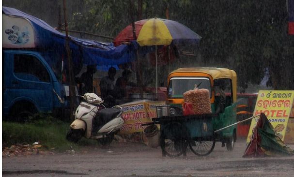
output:
[[[149,100],[139,100],[122,104],[124,127],[122,127],[120,133],[143,132],[145,126],[141,126],[141,124],[152,122],[151,118],[156,118],[156,105],[162,104],[165,104],[165,102]]]

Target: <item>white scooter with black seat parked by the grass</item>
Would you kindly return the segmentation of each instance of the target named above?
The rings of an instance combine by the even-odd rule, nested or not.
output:
[[[104,101],[94,93],[85,93],[83,98],[86,102],[78,105],[66,139],[77,143],[84,136],[97,139],[102,146],[109,145],[114,134],[124,126],[122,107],[106,108],[102,104]]]

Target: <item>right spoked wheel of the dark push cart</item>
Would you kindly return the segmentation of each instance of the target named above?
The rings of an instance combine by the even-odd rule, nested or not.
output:
[[[206,156],[210,154],[216,145],[216,139],[212,141],[189,141],[189,147],[191,151],[198,156]]]

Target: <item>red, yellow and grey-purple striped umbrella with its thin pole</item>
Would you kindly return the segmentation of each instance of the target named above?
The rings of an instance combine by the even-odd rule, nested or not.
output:
[[[124,42],[137,41],[140,46],[155,46],[156,63],[156,97],[158,88],[157,79],[157,45],[170,44],[197,44],[201,36],[185,25],[167,19],[151,18],[135,22],[136,39],[134,39],[132,24],[124,28],[113,40],[118,46]]]

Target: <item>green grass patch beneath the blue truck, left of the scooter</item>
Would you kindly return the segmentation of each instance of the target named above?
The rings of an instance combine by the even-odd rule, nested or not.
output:
[[[84,146],[98,146],[97,141],[82,138],[77,144],[65,139],[68,122],[50,116],[39,115],[26,123],[2,121],[2,148],[17,144],[40,142],[43,148],[63,152],[78,150]]]

